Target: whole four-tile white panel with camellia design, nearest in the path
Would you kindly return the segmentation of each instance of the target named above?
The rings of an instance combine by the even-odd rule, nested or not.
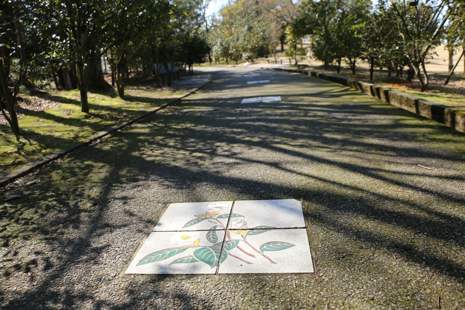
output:
[[[305,227],[295,199],[170,204],[126,273],[313,272]]]

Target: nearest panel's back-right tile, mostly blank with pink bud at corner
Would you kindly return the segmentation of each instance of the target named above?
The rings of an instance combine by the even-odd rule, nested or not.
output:
[[[305,228],[299,200],[236,200],[229,228],[270,226],[273,228]]]

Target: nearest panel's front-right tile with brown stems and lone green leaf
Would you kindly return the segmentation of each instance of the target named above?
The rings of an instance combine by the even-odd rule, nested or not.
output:
[[[224,244],[226,258],[219,264],[219,273],[313,272],[306,229],[231,231],[230,237]]]

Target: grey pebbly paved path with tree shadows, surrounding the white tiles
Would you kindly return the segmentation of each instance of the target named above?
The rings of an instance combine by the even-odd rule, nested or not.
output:
[[[1,206],[2,308],[464,308],[465,135],[312,77],[201,70],[178,106],[3,189],[22,198]],[[283,101],[239,104],[261,96]],[[315,275],[118,276],[170,202],[279,198],[303,199]]]

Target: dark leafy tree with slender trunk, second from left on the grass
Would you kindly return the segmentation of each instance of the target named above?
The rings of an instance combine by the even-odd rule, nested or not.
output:
[[[104,36],[115,25],[119,13],[124,12],[120,7],[127,5],[126,1],[116,0],[40,0],[31,6],[36,16],[34,27],[49,41],[50,61],[73,66],[82,112],[89,112],[87,92],[96,76],[95,69],[101,72],[98,65],[104,52]]]

